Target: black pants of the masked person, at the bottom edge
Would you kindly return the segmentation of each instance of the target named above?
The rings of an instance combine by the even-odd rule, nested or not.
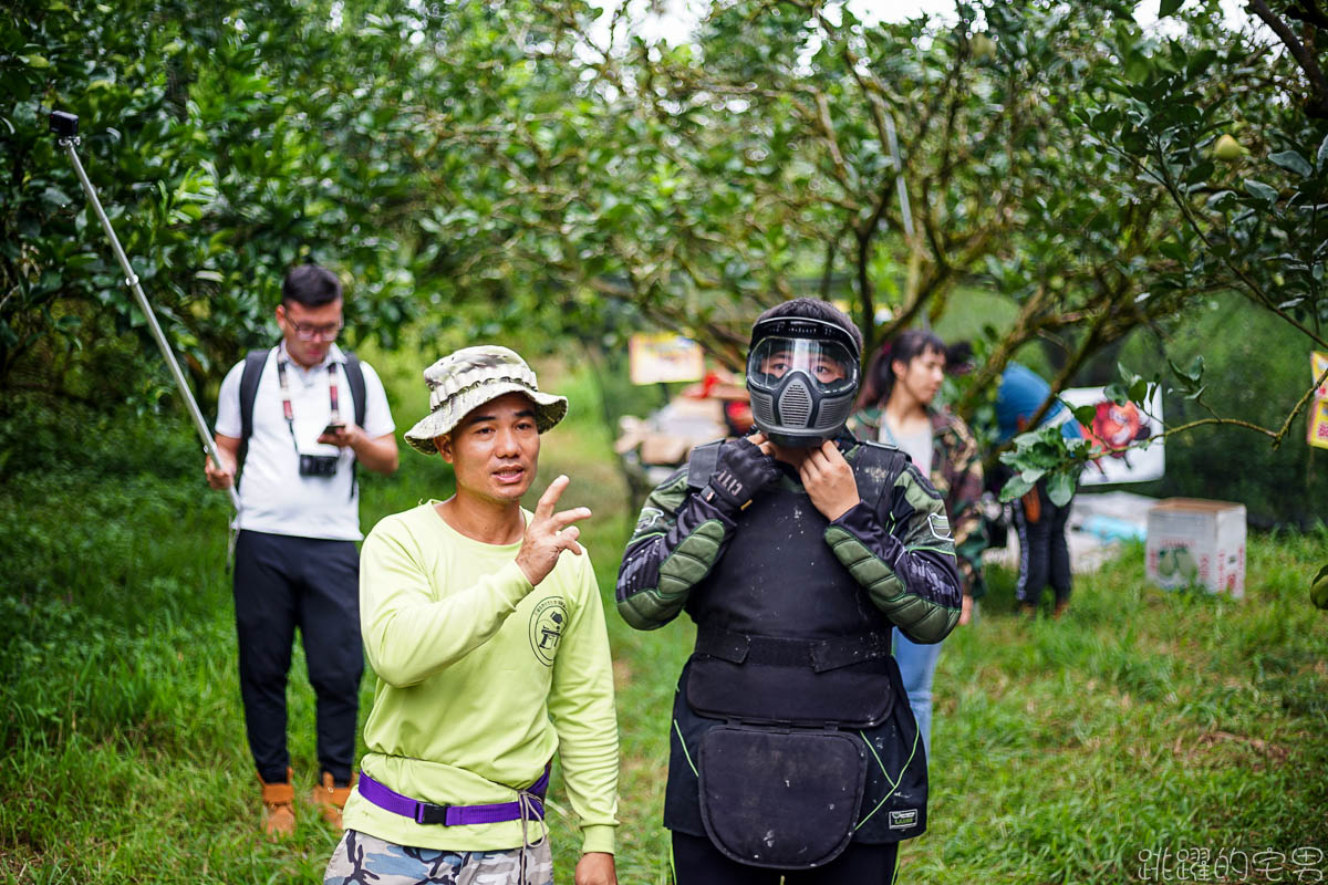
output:
[[[843,853],[819,869],[780,872],[732,861],[705,836],[673,831],[676,885],[890,885],[895,881],[899,844],[850,843]]]

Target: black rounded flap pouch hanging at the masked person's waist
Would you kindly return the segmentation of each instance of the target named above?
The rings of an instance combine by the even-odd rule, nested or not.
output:
[[[701,821],[730,860],[813,869],[849,845],[867,778],[862,740],[724,724],[705,732],[699,756]]]

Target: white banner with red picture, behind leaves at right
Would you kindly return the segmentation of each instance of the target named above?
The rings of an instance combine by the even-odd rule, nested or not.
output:
[[[1102,390],[1102,387],[1070,387],[1061,391],[1061,399],[1076,409],[1093,406],[1093,423],[1080,425],[1080,430],[1084,431],[1085,439],[1096,442],[1108,452],[1084,468],[1080,484],[1106,486],[1162,479],[1166,472],[1166,455],[1161,439],[1147,448],[1126,450],[1127,446],[1143,439],[1162,435],[1162,391],[1153,393],[1145,411],[1133,402],[1117,406]]]

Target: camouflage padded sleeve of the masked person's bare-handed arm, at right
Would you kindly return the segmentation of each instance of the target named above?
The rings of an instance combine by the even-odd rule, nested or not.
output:
[[[891,513],[899,512],[910,515],[895,524]],[[910,464],[895,480],[884,520],[859,503],[830,523],[826,543],[904,636],[940,642],[959,621],[961,602],[940,494]]]

